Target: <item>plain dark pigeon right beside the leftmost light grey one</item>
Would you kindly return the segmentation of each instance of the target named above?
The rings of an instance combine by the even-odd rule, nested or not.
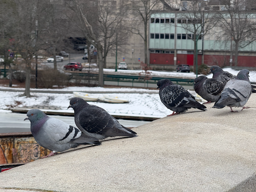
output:
[[[136,137],[137,133],[122,126],[106,110],[88,104],[82,98],[72,98],[68,108],[74,109],[76,126],[86,135],[99,140],[107,137]]]

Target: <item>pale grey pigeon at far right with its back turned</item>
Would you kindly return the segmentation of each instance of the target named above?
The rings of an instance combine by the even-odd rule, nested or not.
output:
[[[220,97],[215,102],[213,108],[224,108],[229,106],[230,112],[233,111],[232,107],[242,107],[242,110],[248,99],[252,94],[252,87],[249,80],[249,71],[247,69],[241,70],[236,78],[229,80],[220,94]]]

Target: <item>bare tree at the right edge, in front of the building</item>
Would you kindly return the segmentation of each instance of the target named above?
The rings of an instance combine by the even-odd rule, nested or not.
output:
[[[216,12],[218,26],[222,31],[223,40],[230,40],[232,58],[232,44],[234,43],[234,65],[238,65],[239,48],[245,47],[256,40],[256,22],[254,0],[226,0],[224,11]],[[232,63],[231,63],[232,64]]]

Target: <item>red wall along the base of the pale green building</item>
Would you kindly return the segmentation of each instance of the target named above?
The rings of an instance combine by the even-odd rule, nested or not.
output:
[[[150,64],[174,65],[174,54],[151,53]],[[177,54],[177,65],[188,64],[193,65],[194,55]],[[198,65],[202,64],[202,55],[198,55]],[[204,55],[204,63],[207,65],[218,65],[221,67],[229,66],[230,56],[228,55]],[[234,56],[233,56],[234,66]],[[256,56],[238,56],[238,66],[256,67]]]

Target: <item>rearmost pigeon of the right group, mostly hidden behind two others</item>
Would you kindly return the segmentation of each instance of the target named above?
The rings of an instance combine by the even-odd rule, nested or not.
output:
[[[224,85],[226,85],[226,83],[229,80],[234,79],[236,77],[235,75],[231,74],[230,72],[222,70],[222,68],[220,68],[217,65],[211,66],[209,73],[213,74],[212,78],[216,78],[216,79],[220,80],[221,82],[224,83]],[[256,86],[254,86],[254,85],[251,85],[251,86],[252,86],[252,93],[256,93],[256,90],[254,90],[256,88]]]

